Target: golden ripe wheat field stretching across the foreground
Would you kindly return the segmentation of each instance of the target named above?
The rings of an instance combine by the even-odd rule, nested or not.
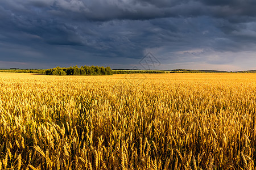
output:
[[[256,74],[0,73],[0,169],[255,169]]]

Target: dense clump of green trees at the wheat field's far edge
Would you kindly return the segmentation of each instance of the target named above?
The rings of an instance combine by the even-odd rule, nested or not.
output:
[[[56,67],[46,70],[47,75],[112,75],[110,67],[99,66],[73,66],[73,67]]]

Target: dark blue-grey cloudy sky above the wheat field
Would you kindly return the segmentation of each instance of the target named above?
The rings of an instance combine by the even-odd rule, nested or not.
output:
[[[256,69],[255,0],[1,0],[0,68]]]

